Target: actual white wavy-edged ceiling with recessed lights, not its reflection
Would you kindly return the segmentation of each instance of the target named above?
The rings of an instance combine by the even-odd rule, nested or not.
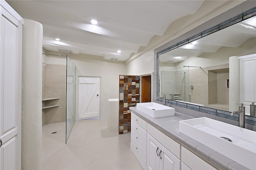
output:
[[[43,25],[46,50],[72,50],[126,61],[202,0],[7,0],[23,18]],[[99,21],[90,24],[90,19]],[[56,41],[55,38],[60,38]],[[117,53],[120,49],[122,53]]]

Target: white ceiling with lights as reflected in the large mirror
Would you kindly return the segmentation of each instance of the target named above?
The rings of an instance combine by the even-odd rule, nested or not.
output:
[[[250,38],[256,38],[256,16],[224,28],[218,32],[188,43],[161,55],[159,61],[176,63],[202,53],[215,53],[220,47],[239,47]]]

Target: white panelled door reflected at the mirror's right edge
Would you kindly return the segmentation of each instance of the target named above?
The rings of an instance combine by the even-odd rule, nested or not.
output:
[[[256,54],[239,58],[240,103],[250,115],[250,104],[256,101]]]

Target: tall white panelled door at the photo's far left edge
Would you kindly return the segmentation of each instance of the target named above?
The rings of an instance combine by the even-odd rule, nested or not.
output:
[[[21,169],[22,24],[2,7],[0,18],[0,169]],[[6,2],[5,2],[6,3]]]

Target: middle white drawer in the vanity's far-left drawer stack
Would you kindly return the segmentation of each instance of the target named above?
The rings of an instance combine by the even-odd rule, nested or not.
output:
[[[133,120],[131,121],[131,136],[138,142],[142,149],[146,152],[147,146],[147,132],[137,125]]]

